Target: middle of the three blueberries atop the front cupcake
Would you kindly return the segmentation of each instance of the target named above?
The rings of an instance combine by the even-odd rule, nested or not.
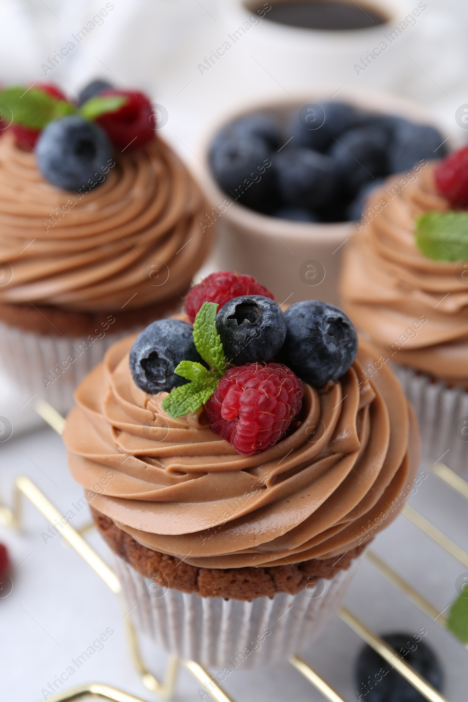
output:
[[[281,307],[262,295],[229,300],[216,315],[216,329],[226,359],[236,366],[268,361],[286,337]]]

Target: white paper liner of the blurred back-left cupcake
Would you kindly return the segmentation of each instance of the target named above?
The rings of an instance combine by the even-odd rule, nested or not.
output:
[[[29,396],[46,400],[60,413],[73,404],[73,392],[107,349],[128,331],[86,338],[44,336],[0,322],[0,362],[8,376]],[[74,358],[70,362],[70,357]],[[68,359],[68,361],[67,361]],[[66,366],[64,369],[63,366]],[[61,370],[60,370],[61,369]]]

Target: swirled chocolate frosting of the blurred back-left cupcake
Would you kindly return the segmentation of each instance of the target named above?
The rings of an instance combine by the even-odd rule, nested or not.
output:
[[[188,288],[210,240],[187,168],[160,138],[102,166],[100,185],[66,192],[42,178],[34,152],[0,138],[0,262],[13,271],[0,303],[129,310]]]

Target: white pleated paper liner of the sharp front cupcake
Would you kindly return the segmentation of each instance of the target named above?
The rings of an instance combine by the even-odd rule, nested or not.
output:
[[[253,602],[161,588],[118,556],[115,569],[138,632],[178,658],[232,672],[284,663],[309,647],[339,607],[357,562],[330,581],[319,578],[310,592]]]

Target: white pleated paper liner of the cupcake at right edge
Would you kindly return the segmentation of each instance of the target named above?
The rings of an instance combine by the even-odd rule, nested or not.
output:
[[[468,392],[403,366],[393,369],[417,414],[422,458],[468,477]]]

